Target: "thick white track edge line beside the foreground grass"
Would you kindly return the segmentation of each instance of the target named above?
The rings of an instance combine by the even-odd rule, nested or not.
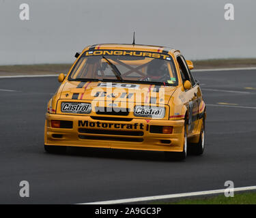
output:
[[[238,187],[234,188],[232,191],[249,191],[255,190],[256,186],[248,186],[248,187]],[[152,201],[152,200],[162,200],[162,199],[171,199],[171,198],[182,198],[182,197],[191,197],[191,196],[205,196],[205,195],[212,195],[216,193],[225,193],[227,189],[216,189],[210,191],[196,191],[196,192],[188,192],[188,193],[175,193],[169,194],[164,196],[149,196],[149,197],[141,197],[141,198],[126,198],[120,200],[107,200],[102,202],[88,202],[82,204],[126,204],[132,202],[145,202],[145,201]]]

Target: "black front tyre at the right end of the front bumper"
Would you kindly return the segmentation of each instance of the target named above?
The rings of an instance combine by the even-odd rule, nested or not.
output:
[[[165,151],[165,159],[169,161],[182,161],[188,153],[188,138],[186,134],[186,121],[184,122],[184,146],[182,152]]]

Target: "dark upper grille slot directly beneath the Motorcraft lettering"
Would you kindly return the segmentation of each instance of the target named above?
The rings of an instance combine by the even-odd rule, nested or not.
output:
[[[79,132],[83,134],[100,134],[100,135],[116,135],[116,136],[143,136],[143,131],[119,131],[108,129],[87,129],[79,128]]]

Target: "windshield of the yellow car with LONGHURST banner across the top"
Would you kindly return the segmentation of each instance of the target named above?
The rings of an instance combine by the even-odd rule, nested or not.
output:
[[[68,79],[177,85],[175,65],[170,55],[127,50],[84,52]]]

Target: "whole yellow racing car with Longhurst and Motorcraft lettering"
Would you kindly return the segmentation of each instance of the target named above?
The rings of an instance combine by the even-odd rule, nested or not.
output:
[[[205,103],[180,50],[162,46],[88,46],[48,102],[44,149],[68,146],[164,151],[185,159],[205,146]]]

